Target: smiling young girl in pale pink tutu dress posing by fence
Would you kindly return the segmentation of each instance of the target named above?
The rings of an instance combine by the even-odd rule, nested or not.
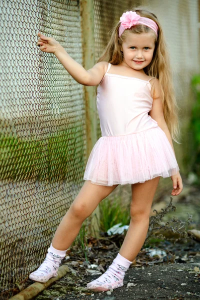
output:
[[[92,291],[117,288],[123,285],[125,271],[145,240],[160,176],[171,177],[172,195],[182,191],[172,144],[178,136],[177,104],[163,33],[153,13],[140,8],[126,11],[103,55],[89,70],[54,38],[38,36],[40,50],[54,53],[77,82],[98,85],[102,136],[90,153],[85,182],[62,218],[45,260],[29,277],[46,282],[56,276],[82,222],[118,184],[129,183],[131,220],[123,244],[105,273],[87,284]]]

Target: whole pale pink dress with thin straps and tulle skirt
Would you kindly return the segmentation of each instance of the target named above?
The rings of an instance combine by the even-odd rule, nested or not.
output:
[[[148,115],[149,80],[108,73],[97,88],[102,136],[93,146],[83,179],[94,184],[133,184],[179,170],[164,131]]]

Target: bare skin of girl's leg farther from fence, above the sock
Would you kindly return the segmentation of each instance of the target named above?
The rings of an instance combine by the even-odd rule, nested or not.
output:
[[[141,249],[149,225],[149,213],[159,178],[131,184],[130,224],[119,253],[132,261]]]

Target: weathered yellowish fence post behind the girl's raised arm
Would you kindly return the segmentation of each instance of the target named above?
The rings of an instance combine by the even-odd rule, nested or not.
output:
[[[94,17],[93,0],[80,0],[80,16],[82,28],[83,66],[87,70],[95,64],[94,53]],[[86,157],[97,140],[96,93],[95,86],[84,86],[86,117]],[[99,236],[99,207],[91,214],[90,234]]]

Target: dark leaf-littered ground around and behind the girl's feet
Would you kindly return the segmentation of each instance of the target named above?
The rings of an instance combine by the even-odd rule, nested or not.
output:
[[[188,212],[192,214],[191,226],[200,230],[199,194],[199,187],[190,188],[181,197],[176,197],[176,212],[169,211],[166,220],[173,215],[186,220]],[[161,207],[168,202],[167,198]],[[159,210],[159,205],[160,202],[154,208]],[[187,225],[180,223],[174,226],[184,230]],[[89,238],[86,252],[83,253],[81,247],[74,247],[63,260],[70,272],[41,292],[35,300],[200,299],[199,241],[187,236],[174,243],[171,240],[174,230],[171,231],[169,226],[168,233],[166,227],[164,232],[166,239],[156,242],[156,238],[152,238],[148,245],[142,247],[125,274],[123,286],[108,292],[91,292],[86,283],[108,268],[120,249],[124,235],[107,236],[104,232],[101,238]],[[33,281],[29,280],[31,283]]]

